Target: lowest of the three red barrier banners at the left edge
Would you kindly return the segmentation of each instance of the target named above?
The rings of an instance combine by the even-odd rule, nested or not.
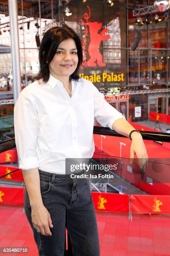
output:
[[[0,187],[0,204],[23,205],[24,187]]]

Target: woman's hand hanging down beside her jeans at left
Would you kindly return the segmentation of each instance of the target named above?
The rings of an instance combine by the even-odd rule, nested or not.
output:
[[[31,206],[32,225],[44,236],[52,236],[50,228],[53,228],[50,212],[42,204],[39,206]]]

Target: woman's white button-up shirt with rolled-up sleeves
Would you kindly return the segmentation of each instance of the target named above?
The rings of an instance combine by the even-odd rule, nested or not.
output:
[[[72,81],[71,97],[51,74],[47,83],[29,84],[14,108],[19,168],[65,174],[65,158],[91,158],[94,118],[112,129],[123,116],[92,82]]]

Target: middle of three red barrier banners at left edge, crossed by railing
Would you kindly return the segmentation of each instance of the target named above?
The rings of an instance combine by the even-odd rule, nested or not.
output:
[[[0,165],[0,176],[3,176],[9,172],[12,172],[14,170],[18,169],[18,166],[10,166],[10,165]],[[16,172],[13,172],[11,174],[8,174],[7,176],[1,178],[6,180],[15,180],[23,182],[23,174],[21,170],[18,170]]]

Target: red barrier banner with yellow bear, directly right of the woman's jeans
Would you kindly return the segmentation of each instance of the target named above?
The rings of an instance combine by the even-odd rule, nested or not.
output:
[[[129,212],[129,195],[92,192],[95,210]]]

